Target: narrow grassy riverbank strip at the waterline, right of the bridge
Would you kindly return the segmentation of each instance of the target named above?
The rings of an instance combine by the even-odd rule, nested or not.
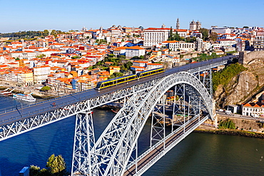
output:
[[[210,133],[210,134],[217,134],[217,135],[238,135],[238,136],[243,136],[243,137],[248,137],[248,138],[259,138],[259,139],[264,139],[264,134],[263,133],[255,133],[255,132],[250,132],[250,131],[245,131],[245,130],[230,130],[230,129],[213,129],[213,128],[196,128],[193,132],[195,133]]]

